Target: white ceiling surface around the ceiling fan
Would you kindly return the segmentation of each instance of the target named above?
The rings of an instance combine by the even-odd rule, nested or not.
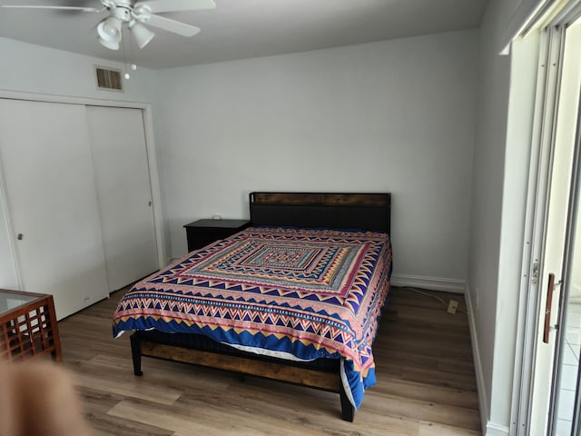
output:
[[[163,0],[157,0],[163,2]],[[196,25],[192,37],[162,30],[140,50],[123,31],[119,51],[96,41],[101,14],[0,8],[0,37],[149,68],[208,64],[478,28],[487,0],[215,0],[216,8],[162,14]],[[87,6],[99,0],[0,0],[0,5]]]

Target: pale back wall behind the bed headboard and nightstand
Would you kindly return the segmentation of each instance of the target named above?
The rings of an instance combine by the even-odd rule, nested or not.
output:
[[[389,191],[396,276],[463,287],[477,52],[467,31],[163,70],[173,256],[183,224],[247,217],[253,190]]]

